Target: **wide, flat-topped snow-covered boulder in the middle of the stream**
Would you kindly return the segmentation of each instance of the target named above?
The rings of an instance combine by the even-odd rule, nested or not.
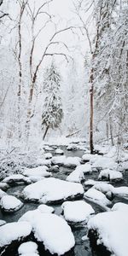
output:
[[[67,198],[82,196],[84,189],[79,183],[70,183],[54,177],[48,177],[23,189],[26,200],[42,203],[66,201]]]

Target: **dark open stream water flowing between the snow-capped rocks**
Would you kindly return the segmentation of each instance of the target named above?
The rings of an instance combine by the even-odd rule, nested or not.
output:
[[[76,150],[76,151],[67,151],[65,147],[61,147],[61,149],[64,150],[64,153],[67,156],[79,156],[81,157],[84,154],[84,151],[82,150]],[[53,154],[53,152],[52,152]],[[58,173],[53,173],[53,177],[58,177],[60,179],[65,180],[68,173],[73,172],[73,169],[70,168],[65,168],[63,166],[60,166],[59,168],[59,172]],[[98,178],[98,172],[92,172],[92,174],[86,174],[85,175],[85,180],[91,178],[91,179],[95,179],[97,180]],[[127,186],[128,185],[128,172],[125,172],[124,175],[124,180],[121,181],[120,183],[113,183],[113,186]],[[8,189],[7,193],[8,195],[15,195],[15,196],[19,196],[21,191],[24,189],[25,185],[18,185],[15,187],[11,187]],[[86,191],[88,188],[84,187],[84,190]],[[123,199],[123,198],[118,198],[115,197],[112,201],[112,206],[115,202],[125,202],[128,203],[127,200]],[[88,202],[88,201],[87,201]],[[94,208],[95,212],[102,212],[102,208],[97,206],[95,203],[90,202],[91,206]],[[24,206],[22,208],[20,208],[19,211],[14,212],[14,213],[3,213],[0,210],[0,219],[5,220],[7,223],[9,222],[15,222],[17,221],[25,212],[30,211],[30,210],[35,210],[38,207],[38,204],[36,203],[26,203],[24,202]],[[62,211],[61,211],[61,204],[59,205],[52,205],[52,207],[55,208],[55,214],[57,215],[61,215]],[[87,229],[86,226],[84,225],[76,225],[76,226],[71,226],[72,230],[73,230],[73,235],[75,237],[75,241],[76,241],[76,245],[73,249],[73,251],[71,253],[67,253],[68,256],[107,256],[109,255],[105,250],[103,251],[103,253],[101,253],[101,251],[98,249],[98,247],[93,247],[92,245],[90,245],[90,240],[85,240],[82,241],[82,237],[87,235]],[[30,239],[29,239],[30,240]],[[32,240],[32,238],[31,238]],[[0,255],[4,255],[1,254]],[[12,255],[12,254],[11,254]],[[45,255],[50,255],[49,253],[41,253],[39,250],[39,255],[40,256],[45,256]],[[5,256],[10,256],[10,253],[6,254]],[[13,254],[12,256],[16,256],[16,254]]]

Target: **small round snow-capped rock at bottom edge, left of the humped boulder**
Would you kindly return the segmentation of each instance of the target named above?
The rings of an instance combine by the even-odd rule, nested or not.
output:
[[[20,245],[18,253],[21,255],[26,253],[38,253],[38,245],[36,242],[26,241]]]

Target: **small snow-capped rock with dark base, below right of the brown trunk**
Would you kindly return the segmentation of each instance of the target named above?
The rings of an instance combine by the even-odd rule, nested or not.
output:
[[[107,179],[107,180],[120,180],[123,178],[123,175],[121,172],[118,171],[112,171],[110,169],[102,170],[99,174],[99,179]]]

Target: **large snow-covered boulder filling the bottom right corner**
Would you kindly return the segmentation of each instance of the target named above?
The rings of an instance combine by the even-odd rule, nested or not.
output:
[[[116,256],[125,256],[128,252],[128,218],[125,212],[102,212],[90,218],[89,230],[96,230],[97,245],[103,244]]]

